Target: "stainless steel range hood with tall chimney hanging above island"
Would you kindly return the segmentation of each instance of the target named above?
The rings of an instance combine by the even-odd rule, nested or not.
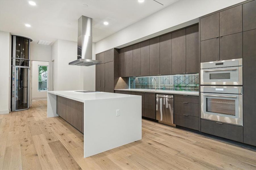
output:
[[[77,60],[68,65],[91,66],[101,62],[92,59],[92,18],[81,16],[78,19]]]

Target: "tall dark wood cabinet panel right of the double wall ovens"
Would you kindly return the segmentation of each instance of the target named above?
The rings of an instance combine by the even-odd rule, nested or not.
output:
[[[256,29],[243,32],[243,142],[256,146]]]

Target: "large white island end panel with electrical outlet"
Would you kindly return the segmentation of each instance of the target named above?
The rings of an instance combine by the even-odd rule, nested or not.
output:
[[[120,116],[116,110],[120,109]],[[141,96],[84,103],[84,157],[141,139]]]

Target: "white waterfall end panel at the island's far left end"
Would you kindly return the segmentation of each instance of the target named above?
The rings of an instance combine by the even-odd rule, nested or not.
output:
[[[47,93],[47,118],[59,116],[56,110],[57,110],[56,95]]]

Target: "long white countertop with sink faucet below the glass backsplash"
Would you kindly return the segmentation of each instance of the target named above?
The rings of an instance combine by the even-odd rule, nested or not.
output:
[[[199,92],[186,92],[186,91],[148,90],[148,89],[115,89],[115,90],[131,91],[131,92],[150,92],[150,93],[160,93],[160,94],[181,94],[181,95],[196,95],[196,96],[199,96]]]

